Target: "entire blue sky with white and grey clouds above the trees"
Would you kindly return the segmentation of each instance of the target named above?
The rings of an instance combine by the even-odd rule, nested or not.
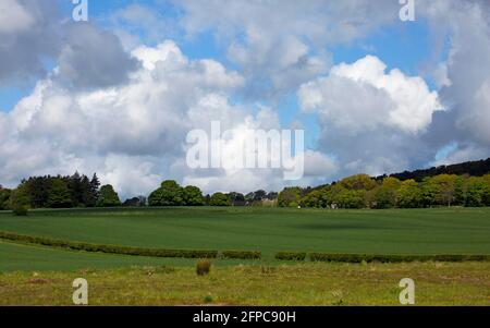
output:
[[[490,2],[0,0],[0,184],[97,172],[122,197],[317,185],[490,156]],[[193,170],[186,135],[305,131],[305,174]]]

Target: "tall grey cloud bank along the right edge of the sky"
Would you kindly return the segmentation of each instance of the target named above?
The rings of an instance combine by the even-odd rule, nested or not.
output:
[[[434,72],[443,72],[439,94],[448,111],[434,116],[426,141],[456,144],[446,162],[489,156],[490,2],[434,1],[422,9],[434,38],[450,45]]]

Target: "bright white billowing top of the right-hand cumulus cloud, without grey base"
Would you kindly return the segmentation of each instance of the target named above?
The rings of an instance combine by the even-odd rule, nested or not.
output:
[[[441,109],[438,95],[420,77],[400,70],[385,74],[387,65],[367,56],[353,64],[332,68],[326,78],[299,90],[304,110],[319,110],[324,119],[351,133],[387,127],[417,133]]]

